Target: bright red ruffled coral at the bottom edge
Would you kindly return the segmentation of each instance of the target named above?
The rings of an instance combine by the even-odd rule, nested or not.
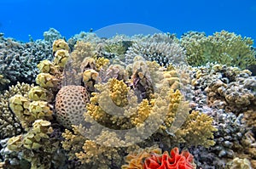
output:
[[[177,147],[171,150],[171,155],[167,151],[163,155],[151,154],[143,165],[144,169],[194,169],[193,155],[184,150],[179,155]]]

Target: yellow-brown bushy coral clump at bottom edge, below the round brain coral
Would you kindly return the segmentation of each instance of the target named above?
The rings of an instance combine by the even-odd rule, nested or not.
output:
[[[85,138],[79,132],[79,127],[73,126],[73,132],[65,130],[62,133],[64,141],[62,147],[68,150],[69,160],[78,159],[84,167],[109,168],[114,163],[120,166],[122,156],[119,148],[104,146],[102,144],[119,144],[119,139],[114,133],[102,131],[96,140]],[[101,144],[102,143],[102,144]]]

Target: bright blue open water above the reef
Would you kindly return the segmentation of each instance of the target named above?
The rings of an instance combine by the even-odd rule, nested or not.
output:
[[[177,33],[234,31],[256,40],[255,0],[0,0],[0,32],[27,42],[50,27],[69,38],[119,23],[150,25]],[[255,46],[255,44],[254,44]]]

